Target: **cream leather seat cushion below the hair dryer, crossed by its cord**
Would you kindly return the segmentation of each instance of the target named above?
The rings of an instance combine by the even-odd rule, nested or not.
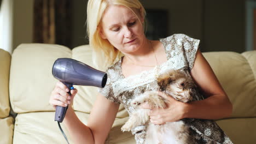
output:
[[[20,113],[15,118],[13,143],[66,143],[54,112]],[[63,131],[72,143],[65,125]],[[57,138],[57,139],[56,139]]]

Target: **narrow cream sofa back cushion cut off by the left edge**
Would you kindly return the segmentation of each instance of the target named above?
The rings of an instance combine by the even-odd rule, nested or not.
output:
[[[0,118],[9,116],[9,71],[11,56],[9,52],[0,49]]]

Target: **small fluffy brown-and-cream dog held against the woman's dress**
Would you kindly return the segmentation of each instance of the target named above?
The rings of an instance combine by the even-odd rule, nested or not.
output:
[[[196,87],[191,77],[181,70],[170,70],[160,75],[158,77],[158,86],[160,91],[183,103],[193,100],[192,89]],[[139,107],[147,102],[152,109],[165,109],[166,101],[156,91],[147,91],[139,95],[139,97],[131,101],[131,106],[135,108],[135,111],[121,130],[130,131],[138,125],[148,124],[146,143],[189,143],[189,127],[183,121],[155,125],[149,121],[148,113],[150,110]]]

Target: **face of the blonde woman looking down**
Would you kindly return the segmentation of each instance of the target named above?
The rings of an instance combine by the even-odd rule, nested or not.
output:
[[[110,5],[102,17],[101,37],[123,53],[136,52],[146,38],[138,17],[124,6]]]

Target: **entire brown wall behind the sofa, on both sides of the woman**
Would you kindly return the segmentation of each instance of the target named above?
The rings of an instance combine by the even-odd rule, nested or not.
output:
[[[88,44],[86,0],[73,1],[72,46]],[[201,40],[201,51],[245,51],[245,0],[141,0],[146,9],[168,10],[168,35]],[[14,1],[13,46],[32,43],[33,0]]]

